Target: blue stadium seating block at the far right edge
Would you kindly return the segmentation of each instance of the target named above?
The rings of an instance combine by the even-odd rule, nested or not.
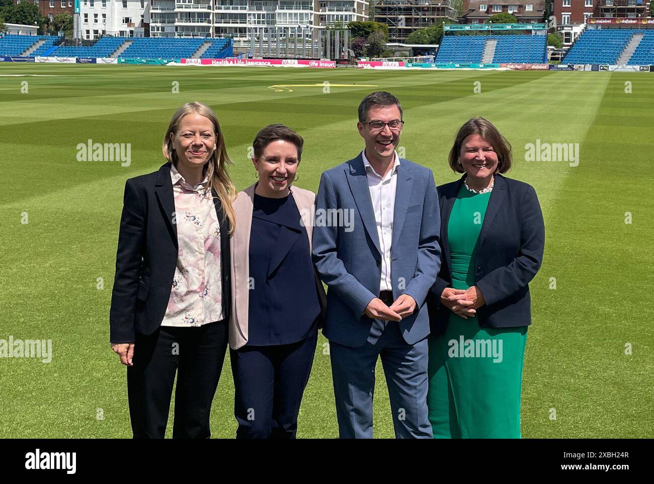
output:
[[[644,37],[634,51],[631,65],[654,63],[654,31],[645,29],[586,29],[563,59],[568,64],[615,64],[635,33]]]

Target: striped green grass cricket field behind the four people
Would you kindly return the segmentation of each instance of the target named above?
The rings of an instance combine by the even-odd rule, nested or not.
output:
[[[275,92],[274,84],[320,86]],[[163,164],[162,138],[177,107],[201,101],[216,111],[239,190],[254,182],[248,148],[256,132],[288,124],[305,139],[297,184],[315,191],[324,169],[362,149],[356,108],[375,90],[400,98],[400,146],[438,184],[458,177],[447,166],[458,126],[481,115],[513,145],[507,175],[536,188],[547,235],[531,283],[523,436],[653,436],[654,75],[3,63],[0,339],[52,339],[53,356],[49,364],[0,358],[0,437],[131,437],[126,370],[109,347],[123,187]],[[131,143],[131,165],[78,162],[77,145],[88,139]],[[579,165],[525,161],[525,145],[537,139],[579,143]],[[338,435],[325,343],[320,336],[301,438]],[[213,436],[235,435],[228,358],[211,420]],[[375,437],[392,436],[379,364]]]

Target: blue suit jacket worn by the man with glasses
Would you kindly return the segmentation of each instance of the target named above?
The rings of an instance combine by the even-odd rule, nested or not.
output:
[[[411,316],[389,324],[399,324],[404,340],[413,345],[429,334],[424,302],[440,267],[440,211],[430,169],[401,159],[396,176],[390,262],[393,297],[409,294],[418,307]],[[351,211],[353,227],[320,226],[320,214],[329,213],[326,209]],[[381,250],[361,154],[322,173],[316,215],[313,261],[329,289],[322,332],[335,343],[363,346],[373,324],[364,311],[379,296]]]

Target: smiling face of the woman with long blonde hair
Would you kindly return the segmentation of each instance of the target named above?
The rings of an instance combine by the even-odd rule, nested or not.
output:
[[[216,149],[216,131],[213,122],[193,112],[181,119],[177,133],[171,133],[178,163],[183,167],[202,167]]]

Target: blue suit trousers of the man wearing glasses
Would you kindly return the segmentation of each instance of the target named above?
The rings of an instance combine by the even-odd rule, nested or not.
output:
[[[375,344],[353,348],[330,341],[336,417],[341,438],[372,438],[377,358],[386,375],[396,438],[432,438],[427,409],[427,339],[407,345],[396,322]]]

